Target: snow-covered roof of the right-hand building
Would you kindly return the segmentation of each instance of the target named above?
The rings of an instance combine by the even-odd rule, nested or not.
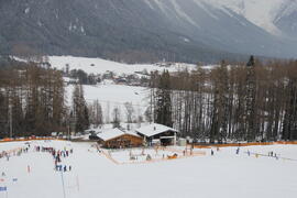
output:
[[[154,136],[156,134],[164,133],[167,131],[178,132],[173,128],[168,128],[166,125],[162,125],[162,124],[157,124],[157,123],[152,123],[150,125],[145,125],[145,127],[142,127],[140,129],[136,129],[136,132],[139,132],[145,136]]]

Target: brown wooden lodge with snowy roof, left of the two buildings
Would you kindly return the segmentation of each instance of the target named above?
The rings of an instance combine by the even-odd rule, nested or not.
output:
[[[107,148],[122,148],[122,147],[138,147],[142,146],[143,139],[133,132],[124,132],[120,129],[105,130],[97,134],[103,147]]]

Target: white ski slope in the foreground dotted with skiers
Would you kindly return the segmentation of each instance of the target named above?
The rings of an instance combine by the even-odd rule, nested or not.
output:
[[[74,148],[62,158],[72,172],[54,170],[48,153],[34,145]],[[0,143],[0,151],[25,146],[24,142]],[[10,198],[295,198],[297,195],[297,146],[272,145],[221,148],[210,155],[157,163],[117,165],[90,143],[32,142],[29,153],[0,158],[0,197]],[[278,160],[252,153],[273,151]],[[124,158],[127,152],[114,153]],[[120,155],[120,156],[118,156]],[[283,160],[288,157],[290,160]],[[127,157],[125,157],[127,158]],[[28,172],[30,166],[30,173]],[[4,176],[2,176],[4,173]],[[62,176],[64,178],[65,196]]]

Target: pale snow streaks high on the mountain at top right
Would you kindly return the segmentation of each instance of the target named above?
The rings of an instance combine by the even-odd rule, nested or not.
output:
[[[297,2],[293,0],[189,0],[196,3],[199,8],[204,9],[210,18],[218,20],[218,16],[210,10],[210,7],[219,9],[230,16],[234,13],[242,15],[251,23],[265,30],[274,35],[282,35],[275,22],[277,19],[290,14],[296,11]],[[183,0],[144,0],[151,9],[158,8],[163,14],[169,16],[169,12],[174,11],[177,19],[182,19],[199,28],[196,22],[182,7]],[[152,4],[155,4],[153,7]],[[169,4],[173,6],[169,7]],[[209,7],[210,6],[210,7]],[[242,23],[243,25],[246,25]]]

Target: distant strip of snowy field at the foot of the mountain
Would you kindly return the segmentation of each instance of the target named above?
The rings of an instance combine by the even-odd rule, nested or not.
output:
[[[64,69],[66,65],[69,65],[69,69],[82,69],[87,74],[103,74],[106,72],[113,72],[116,74],[134,74],[135,72],[143,72],[146,69],[148,73],[154,70],[163,72],[177,72],[184,69],[195,69],[196,65],[176,63],[170,67],[161,67],[154,64],[123,64],[112,61],[106,61],[101,58],[88,58],[88,57],[74,57],[74,56],[50,56],[50,63],[53,68]]]

